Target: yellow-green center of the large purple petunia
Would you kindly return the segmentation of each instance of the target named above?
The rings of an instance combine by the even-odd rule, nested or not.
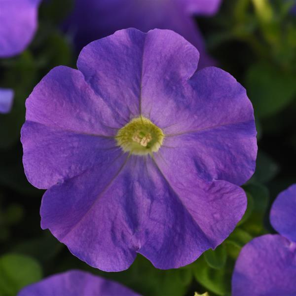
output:
[[[158,151],[162,145],[164,134],[148,118],[137,117],[122,127],[116,140],[124,152],[146,155]]]

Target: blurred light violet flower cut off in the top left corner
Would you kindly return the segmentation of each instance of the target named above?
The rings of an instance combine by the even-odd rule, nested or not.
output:
[[[37,29],[41,0],[0,0],[0,58],[19,54]]]

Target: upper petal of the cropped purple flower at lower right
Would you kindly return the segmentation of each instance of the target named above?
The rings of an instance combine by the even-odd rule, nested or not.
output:
[[[296,242],[296,184],[281,192],[273,202],[270,223],[278,233]]]

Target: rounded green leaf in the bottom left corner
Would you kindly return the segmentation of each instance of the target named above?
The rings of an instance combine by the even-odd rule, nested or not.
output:
[[[36,260],[12,253],[0,257],[0,275],[1,296],[15,296],[21,288],[42,278]]]

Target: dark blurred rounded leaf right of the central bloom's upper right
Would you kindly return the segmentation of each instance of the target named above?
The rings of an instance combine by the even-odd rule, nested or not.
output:
[[[271,64],[255,64],[246,74],[246,89],[255,115],[266,117],[284,109],[296,95],[294,75]]]

